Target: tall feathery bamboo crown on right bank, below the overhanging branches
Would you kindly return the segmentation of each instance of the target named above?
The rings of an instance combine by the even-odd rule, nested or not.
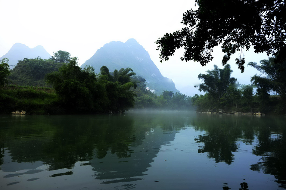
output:
[[[216,65],[214,70],[208,70],[207,74],[199,74],[198,79],[202,79],[204,83],[200,84],[199,91],[209,93],[216,100],[220,100],[227,92],[230,85],[235,84],[236,78],[230,77],[233,72],[230,65],[225,65],[223,69],[219,69]],[[195,86],[197,87],[197,86]]]

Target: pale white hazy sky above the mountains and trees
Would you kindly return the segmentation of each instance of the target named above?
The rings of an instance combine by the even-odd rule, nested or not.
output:
[[[201,67],[193,61],[180,61],[182,50],[160,63],[154,43],[166,32],[181,29],[182,14],[195,8],[194,4],[194,0],[0,0],[0,57],[19,42],[30,48],[42,45],[51,55],[58,50],[68,51],[83,64],[104,44],[134,38],[148,51],[163,76],[173,79],[182,93],[194,95],[199,73],[213,69],[214,64],[222,68],[220,47],[213,52],[214,60]],[[247,63],[268,58],[266,54],[254,54],[253,49],[243,53]],[[239,55],[232,55],[229,61],[232,76],[241,84],[249,84],[257,70],[246,67],[240,73],[234,62]]]

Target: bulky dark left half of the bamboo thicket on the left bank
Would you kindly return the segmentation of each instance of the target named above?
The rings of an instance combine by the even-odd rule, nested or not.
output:
[[[71,112],[104,111],[107,102],[104,86],[97,81],[91,66],[83,70],[77,65],[77,58],[71,58],[58,72],[48,73],[45,79],[51,84]]]

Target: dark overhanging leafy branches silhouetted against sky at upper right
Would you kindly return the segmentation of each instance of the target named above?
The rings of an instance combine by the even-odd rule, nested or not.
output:
[[[249,50],[277,55],[286,50],[286,7],[284,0],[195,0],[197,10],[183,14],[182,30],[166,33],[156,41],[160,58],[169,60],[176,49],[184,48],[181,60],[198,61],[202,66],[213,59],[213,48],[222,45],[225,65],[232,54]],[[286,58],[280,54],[279,59]],[[236,64],[244,71],[244,58]]]

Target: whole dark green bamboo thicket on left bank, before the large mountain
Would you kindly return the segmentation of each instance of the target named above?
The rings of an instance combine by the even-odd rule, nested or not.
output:
[[[130,91],[132,69],[114,70],[110,76],[107,67],[101,67],[96,76],[93,67],[81,69],[77,58],[71,58],[59,71],[48,73],[45,79],[59,95],[62,106],[74,112],[121,112],[134,106],[134,93]],[[116,73],[116,74],[115,74]]]

